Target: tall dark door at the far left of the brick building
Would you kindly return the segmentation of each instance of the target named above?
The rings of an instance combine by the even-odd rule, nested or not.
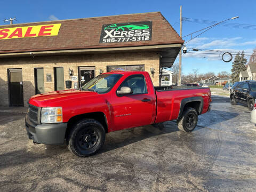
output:
[[[8,69],[10,106],[24,106],[22,69]]]

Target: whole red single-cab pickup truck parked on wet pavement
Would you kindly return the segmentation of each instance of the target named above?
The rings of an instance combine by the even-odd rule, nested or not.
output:
[[[211,109],[207,87],[154,87],[144,71],[113,71],[79,90],[34,95],[29,99],[29,139],[44,144],[67,142],[85,157],[96,153],[111,131],[177,119],[180,130],[194,130],[198,115]]]

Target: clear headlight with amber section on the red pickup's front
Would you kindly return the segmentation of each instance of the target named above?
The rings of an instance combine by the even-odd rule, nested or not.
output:
[[[62,107],[43,107],[41,110],[41,123],[61,123]]]

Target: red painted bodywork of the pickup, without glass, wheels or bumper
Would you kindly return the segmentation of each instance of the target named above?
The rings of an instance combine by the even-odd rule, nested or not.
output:
[[[115,71],[121,74],[113,88],[104,94],[92,91],[64,90],[34,95],[29,104],[37,107],[62,107],[63,122],[70,118],[100,112],[106,117],[108,132],[177,119],[181,101],[190,97],[202,97],[203,111],[210,105],[210,89],[185,89],[155,91],[150,75],[145,71]],[[109,73],[107,73],[109,74]],[[117,95],[122,82],[131,75],[145,76],[147,93]],[[148,102],[142,102],[149,99]]]

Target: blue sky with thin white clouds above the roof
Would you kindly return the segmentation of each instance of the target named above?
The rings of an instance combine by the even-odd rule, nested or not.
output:
[[[232,3],[229,3],[232,2]],[[231,17],[231,23],[256,25],[256,1],[1,1],[0,25],[6,25],[3,19],[16,17],[14,23],[100,17],[107,15],[161,11],[174,29],[180,33],[180,5],[182,16],[191,19],[223,21]],[[196,20],[196,21],[197,21]],[[195,21],[195,20],[193,20]],[[200,23],[199,23],[200,22]],[[182,36],[210,26],[208,22],[183,21]],[[253,51],[256,47],[256,30],[244,27],[215,26],[188,42],[188,48],[220,51]],[[254,26],[256,28],[256,26]],[[252,27],[253,28],[253,27]],[[153,31],[154,33],[154,31]],[[190,37],[183,38],[188,41]],[[214,52],[209,52],[214,53]],[[251,53],[248,53],[251,54]],[[199,73],[220,71],[230,72],[232,62],[221,61],[219,55],[186,53],[182,55],[182,73],[192,69]],[[249,58],[250,56],[247,56]],[[178,62],[178,59],[175,61]]]

